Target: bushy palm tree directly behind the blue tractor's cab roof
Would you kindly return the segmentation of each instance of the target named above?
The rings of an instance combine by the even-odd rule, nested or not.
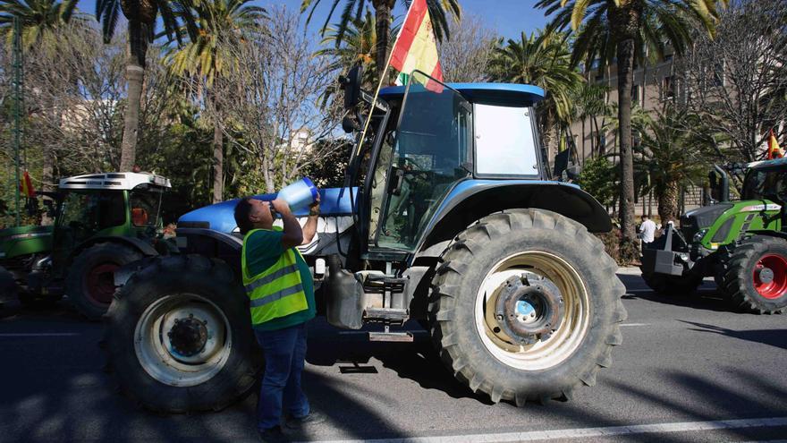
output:
[[[541,136],[550,153],[554,152],[554,132],[571,123],[572,98],[583,81],[571,65],[565,36],[522,32],[519,40],[509,39],[505,46],[495,48],[489,71],[493,81],[527,83],[546,90],[546,99],[538,107]]]

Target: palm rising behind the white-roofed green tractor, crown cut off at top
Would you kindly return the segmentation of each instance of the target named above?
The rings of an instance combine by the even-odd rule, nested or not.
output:
[[[190,18],[190,0],[97,0],[96,18],[102,24],[105,43],[114,36],[119,18],[118,13],[128,21],[129,60],[126,64],[126,81],[128,81],[128,103],[123,115],[123,141],[121,143],[120,170],[131,171],[134,166],[137,149],[137,132],[140,126],[140,100],[142,81],[145,75],[145,56],[148,54],[148,43],[156,35],[156,21],[161,16],[165,33],[177,36],[180,41],[178,17],[185,19],[186,24],[194,26]]]

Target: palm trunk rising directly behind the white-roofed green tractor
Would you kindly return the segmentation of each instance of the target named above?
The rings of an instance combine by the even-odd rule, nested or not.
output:
[[[140,130],[142,81],[145,78],[145,55],[148,52],[148,39],[139,21],[129,21],[129,49],[129,64],[126,65],[128,103],[125,115],[123,115],[121,171],[131,171],[134,166],[137,154],[137,134]]]

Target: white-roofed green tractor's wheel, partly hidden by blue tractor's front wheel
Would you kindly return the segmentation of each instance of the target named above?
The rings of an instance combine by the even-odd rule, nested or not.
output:
[[[112,302],[114,271],[141,258],[140,252],[123,244],[94,244],[73,260],[65,279],[65,294],[80,314],[91,320],[101,319]]]

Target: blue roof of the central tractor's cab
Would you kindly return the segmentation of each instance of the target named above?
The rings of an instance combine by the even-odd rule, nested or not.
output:
[[[470,102],[483,102],[504,106],[533,106],[544,99],[544,89],[533,85],[513,83],[446,83],[461,92]],[[406,87],[393,86],[380,89],[381,98],[403,96]]]

